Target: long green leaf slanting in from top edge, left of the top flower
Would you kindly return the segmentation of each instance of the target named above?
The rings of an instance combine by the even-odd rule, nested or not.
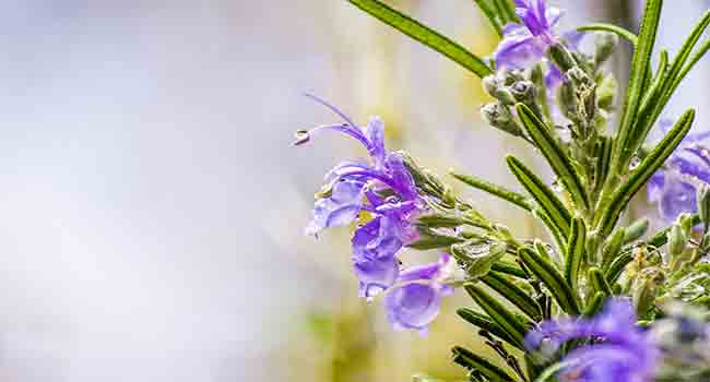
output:
[[[355,7],[379,19],[383,23],[450,58],[458,64],[476,74],[478,77],[484,77],[493,73],[490,68],[488,68],[482,59],[463,48],[461,45],[384,4],[383,2],[378,0],[348,1]]]

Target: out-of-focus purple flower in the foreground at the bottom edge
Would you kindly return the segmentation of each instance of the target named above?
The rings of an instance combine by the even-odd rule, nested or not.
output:
[[[559,381],[651,382],[661,360],[659,347],[636,325],[628,300],[610,300],[592,320],[544,322],[528,334],[525,343],[531,349],[551,355],[570,339],[587,339],[590,344],[567,354]]]

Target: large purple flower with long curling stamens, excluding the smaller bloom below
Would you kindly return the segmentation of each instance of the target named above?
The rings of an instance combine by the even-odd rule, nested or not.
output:
[[[352,239],[352,262],[359,294],[371,299],[394,285],[400,276],[397,253],[417,239],[413,222],[424,211],[424,202],[402,156],[386,152],[384,126],[379,118],[371,118],[362,129],[335,107],[309,97],[333,110],[344,123],[300,131],[296,144],[309,142],[321,131],[334,130],[360,142],[370,160],[343,162],[326,175],[326,186],[317,194],[306,232],[318,235],[326,228],[351,224],[362,212],[371,216],[355,230]]]

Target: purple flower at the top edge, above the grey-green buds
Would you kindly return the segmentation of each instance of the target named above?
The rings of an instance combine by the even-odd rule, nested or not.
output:
[[[547,7],[545,0],[516,0],[516,13],[522,24],[509,23],[504,28],[504,38],[494,55],[496,64],[499,69],[525,69],[545,61],[545,83],[547,88],[552,89],[565,81],[565,75],[546,60],[547,49],[564,40],[569,48],[576,50],[583,34],[575,31],[561,36],[556,35],[554,28],[563,11]]]

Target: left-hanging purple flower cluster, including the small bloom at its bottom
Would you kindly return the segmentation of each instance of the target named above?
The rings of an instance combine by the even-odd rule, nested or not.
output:
[[[335,226],[358,225],[352,238],[353,270],[362,297],[372,299],[391,289],[387,297],[388,318],[398,329],[425,331],[439,311],[441,296],[451,291],[442,284],[454,264],[448,255],[437,263],[400,270],[399,252],[418,237],[416,218],[426,212],[412,175],[400,153],[384,150],[383,122],[374,117],[365,129],[324,100],[309,95],[339,115],[344,123],[297,132],[296,145],[326,130],[334,130],[360,142],[369,162],[343,162],[330,170],[323,189],[316,195],[309,235]]]

